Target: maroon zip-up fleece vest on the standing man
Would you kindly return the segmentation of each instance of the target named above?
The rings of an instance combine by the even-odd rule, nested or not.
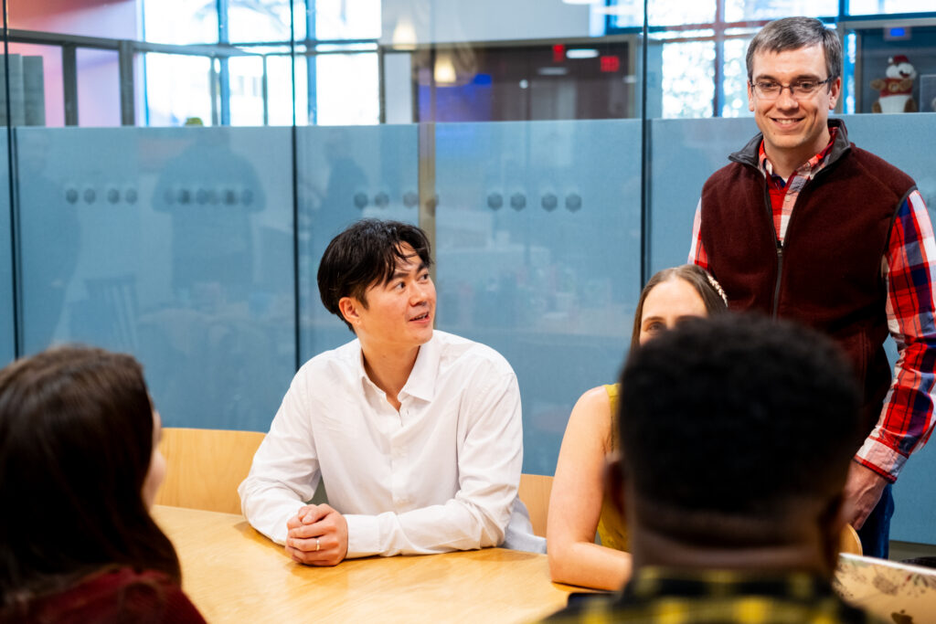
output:
[[[781,246],[757,168],[760,139],[731,154],[734,162],[703,187],[709,270],[732,309],[797,320],[838,341],[864,388],[867,417],[876,422],[890,385],[881,261],[914,181],[849,144],[841,124],[828,164],[797,197]]]

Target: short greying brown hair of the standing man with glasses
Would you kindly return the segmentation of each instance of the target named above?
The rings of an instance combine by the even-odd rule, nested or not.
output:
[[[821,46],[826,57],[826,79],[841,76],[841,40],[832,30],[815,18],[792,17],[768,22],[748,44],[746,63],[748,81],[753,80],[754,54],[759,51],[782,52]],[[826,85],[830,89],[831,85]]]

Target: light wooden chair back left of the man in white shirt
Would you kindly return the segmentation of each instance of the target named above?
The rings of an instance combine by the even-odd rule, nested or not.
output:
[[[166,481],[156,504],[241,513],[237,487],[250,472],[265,434],[225,429],[164,428]]]

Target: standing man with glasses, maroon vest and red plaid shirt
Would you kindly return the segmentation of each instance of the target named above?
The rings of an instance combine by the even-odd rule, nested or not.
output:
[[[834,31],[812,18],[770,22],[747,69],[761,133],[706,181],[689,261],[722,283],[732,309],[816,327],[850,357],[868,436],[845,497],[865,554],[887,557],[891,484],[934,423],[932,225],[914,181],[828,119],[841,95]],[[893,381],[888,332],[899,349]]]

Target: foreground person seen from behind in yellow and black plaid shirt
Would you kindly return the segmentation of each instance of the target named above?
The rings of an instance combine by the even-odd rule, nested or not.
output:
[[[875,621],[830,583],[859,406],[838,347],[787,321],[694,318],[641,345],[608,469],[632,577],[548,621]]]

